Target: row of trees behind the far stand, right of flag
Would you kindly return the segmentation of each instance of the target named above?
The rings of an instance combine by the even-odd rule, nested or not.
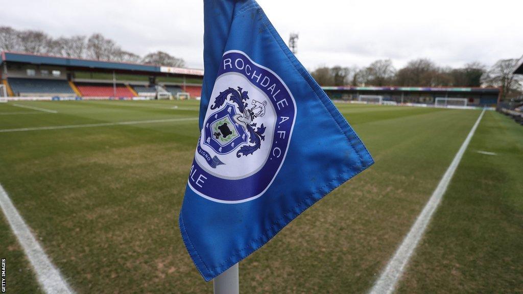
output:
[[[503,98],[520,94],[523,79],[512,72],[517,59],[503,59],[491,67],[479,62],[458,69],[441,67],[428,59],[416,59],[396,70],[390,59],[369,66],[318,67],[311,75],[322,86],[429,86],[501,87]]]

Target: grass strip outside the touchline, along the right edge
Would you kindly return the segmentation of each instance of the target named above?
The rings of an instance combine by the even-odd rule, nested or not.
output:
[[[523,128],[486,112],[399,292],[523,293],[522,172]]]

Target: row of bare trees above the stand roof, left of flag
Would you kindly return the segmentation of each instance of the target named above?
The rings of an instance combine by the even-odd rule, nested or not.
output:
[[[89,58],[115,62],[142,62],[155,65],[185,66],[185,61],[163,51],[140,56],[123,50],[100,33],[87,36],[53,38],[38,30],[16,30],[0,26],[0,51],[51,54],[69,58]]]

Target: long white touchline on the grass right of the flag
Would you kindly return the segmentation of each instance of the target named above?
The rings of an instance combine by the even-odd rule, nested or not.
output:
[[[454,175],[454,172],[456,171],[456,168],[461,161],[461,157],[463,157],[463,153],[465,153],[465,150],[467,150],[467,146],[469,145],[477,126],[480,124],[484,113],[485,109],[483,109],[480,116],[477,118],[474,126],[470,130],[469,135],[463,144],[461,144],[458,153],[456,153],[456,156],[454,156],[454,159],[439,181],[439,184],[434,190],[432,196],[430,196],[430,199],[423,208],[422,212],[419,214],[416,222],[414,222],[412,225],[411,230],[405,236],[405,239],[401,243],[400,247],[397,248],[394,256],[390,259],[379,279],[374,283],[374,286],[369,292],[370,294],[391,294],[394,292],[397,282],[403,275],[405,267],[411,259],[411,256],[414,253],[419,240],[421,240],[425,230],[427,229],[427,225],[429,224],[434,211],[436,211],[436,208],[441,202],[441,198],[445,194],[445,191],[450,184],[450,180],[452,179],[452,176]]]

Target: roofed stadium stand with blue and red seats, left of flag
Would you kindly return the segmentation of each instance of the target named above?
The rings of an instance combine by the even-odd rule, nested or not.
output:
[[[196,98],[201,95],[202,76],[202,70],[181,67],[0,52],[0,78],[8,79],[4,83],[10,97],[140,96],[154,99],[165,92],[173,96],[189,92]],[[117,84],[116,95],[113,81]],[[11,83],[13,92],[10,92]]]

